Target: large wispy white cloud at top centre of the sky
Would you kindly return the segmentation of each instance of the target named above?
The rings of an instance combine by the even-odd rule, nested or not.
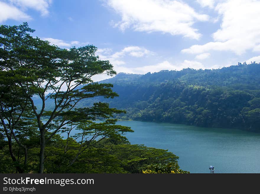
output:
[[[140,32],[163,32],[198,40],[201,34],[192,27],[194,22],[209,20],[208,15],[195,12],[182,1],[108,0],[107,4],[121,15],[121,22],[114,26],[122,31],[133,28]]]

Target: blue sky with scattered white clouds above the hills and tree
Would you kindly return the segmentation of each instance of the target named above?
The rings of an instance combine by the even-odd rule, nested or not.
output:
[[[260,0],[0,0],[0,24],[28,22],[61,48],[95,45],[118,73],[145,74],[260,62],[259,10]]]

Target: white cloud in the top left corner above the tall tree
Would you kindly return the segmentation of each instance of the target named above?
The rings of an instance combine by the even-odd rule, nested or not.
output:
[[[0,22],[4,22],[7,19],[23,21],[30,20],[31,17],[14,6],[0,2]]]

